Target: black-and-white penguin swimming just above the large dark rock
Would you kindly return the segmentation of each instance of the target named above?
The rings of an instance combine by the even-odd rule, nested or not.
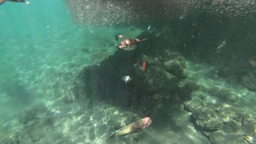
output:
[[[115,40],[118,40],[118,38],[122,38],[123,41],[121,41],[119,43],[119,45],[117,47],[119,47],[120,49],[126,50],[126,51],[131,51],[136,49],[137,44],[141,41],[147,40],[147,39],[127,39],[124,37],[124,35],[115,35]]]

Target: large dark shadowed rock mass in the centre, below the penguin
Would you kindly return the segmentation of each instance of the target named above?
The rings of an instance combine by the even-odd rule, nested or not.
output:
[[[160,105],[182,104],[191,99],[190,93],[198,86],[185,81],[188,73],[181,53],[166,39],[145,31],[138,39],[147,38],[133,51],[118,49],[101,63],[84,67],[75,80],[75,99],[84,105],[98,101],[137,107],[149,115]],[[169,46],[169,47],[167,47]],[[146,67],[142,68],[142,63]],[[129,75],[131,81],[123,81]]]

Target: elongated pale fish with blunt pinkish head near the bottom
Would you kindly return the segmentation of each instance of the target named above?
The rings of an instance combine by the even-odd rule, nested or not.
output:
[[[98,137],[96,140],[101,139],[102,137],[104,137],[106,135],[109,135],[109,137],[106,139],[106,140],[109,140],[113,137],[119,137],[119,136],[131,134],[131,133],[136,133],[138,131],[141,131],[141,130],[147,128],[151,123],[152,123],[152,121],[151,121],[150,117],[145,117],[145,118],[139,119],[138,121],[133,122],[129,125],[126,125],[126,127],[124,127],[124,128],[118,129],[118,130],[113,131],[108,134],[104,134],[101,137]],[[104,141],[106,141],[106,140],[104,140]]]

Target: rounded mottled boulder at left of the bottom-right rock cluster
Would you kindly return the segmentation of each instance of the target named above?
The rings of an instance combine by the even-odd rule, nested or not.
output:
[[[195,119],[195,124],[206,131],[216,131],[223,126],[223,121],[217,113],[207,107],[197,107],[192,117]]]

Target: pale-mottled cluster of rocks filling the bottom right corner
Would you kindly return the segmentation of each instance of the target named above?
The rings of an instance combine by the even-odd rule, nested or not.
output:
[[[254,116],[225,103],[206,104],[200,100],[185,101],[184,109],[191,112],[195,128],[212,144],[253,143]]]

